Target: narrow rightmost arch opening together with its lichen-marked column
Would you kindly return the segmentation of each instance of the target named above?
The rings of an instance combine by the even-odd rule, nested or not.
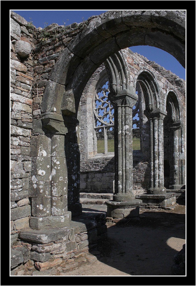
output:
[[[166,98],[167,116],[164,127],[164,177],[168,188],[181,188],[184,184],[184,127],[181,121],[179,100],[173,90]],[[181,186],[179,186],[181,185]]]

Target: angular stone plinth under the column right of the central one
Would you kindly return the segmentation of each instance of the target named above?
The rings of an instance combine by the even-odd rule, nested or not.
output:
[[[135,196],[137,199],[142,200],[140,208],[149,208],[156,206],[161,208],[162,206],[171,206],[176,203],[175,193],[169,192],[166,194],[138,194]]]

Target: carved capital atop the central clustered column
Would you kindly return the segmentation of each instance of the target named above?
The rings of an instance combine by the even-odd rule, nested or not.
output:
[[[110,95],[109,100],[114,106],[128,106],[132,108],[138,101],[137,94],[130,93],[128,90],[122,90],[116,95]]]

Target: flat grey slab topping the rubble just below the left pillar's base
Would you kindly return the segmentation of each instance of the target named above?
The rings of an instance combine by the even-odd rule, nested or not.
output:
[[[21,231],[19,237],[20,239],[25,241],[45,244],[54,242],[58,239],[62,239],[68,233],[69,229],[67,228],[29,230],[29,231]]]

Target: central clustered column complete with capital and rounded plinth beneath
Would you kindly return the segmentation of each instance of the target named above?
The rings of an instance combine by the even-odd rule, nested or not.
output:
[[[113,201],[107,201],[108,216],[130,217],[138,215],[140,200],[135,200],[132,191],[132,108],[138,98],[123,90],[116,96],[110,96],[114,106],[114,152],[115,184]],[[133,211],[134,209],[134,211]]]

